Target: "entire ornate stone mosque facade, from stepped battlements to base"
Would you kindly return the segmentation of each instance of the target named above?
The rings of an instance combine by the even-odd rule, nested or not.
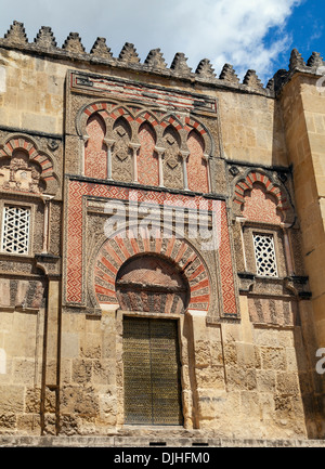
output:
[[[324,62],[264,87],[0,39],[0,435],[324,439]]]

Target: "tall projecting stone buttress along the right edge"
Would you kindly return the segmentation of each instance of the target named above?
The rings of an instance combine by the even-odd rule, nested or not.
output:
[[[324,93],[316,78],[295,76],[281,101],[286,122],[289,161],[294,165],[295,198],[301,223],[306,271],[313,292],[317,342],[324,346]]]

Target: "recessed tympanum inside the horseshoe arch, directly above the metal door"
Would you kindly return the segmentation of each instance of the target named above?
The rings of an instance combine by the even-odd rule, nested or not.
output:
[[[187,279],[160,256],[134,256],[120,268],[115,283],[125,311],[182,314],[190,302]]]

